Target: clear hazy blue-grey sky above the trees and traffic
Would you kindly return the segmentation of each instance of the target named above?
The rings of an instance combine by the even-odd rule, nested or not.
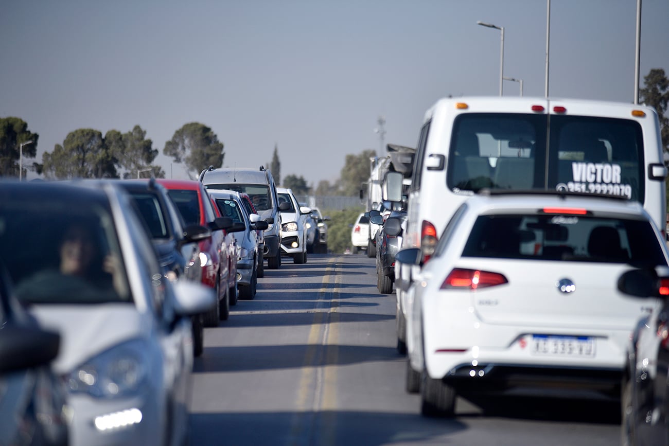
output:
[[[545,0],[7,0],[0,117],[39,134],[37,162],[77,128],[136,124],[163,147],[188,122],[212,128],[225,166],[278,144],[282,177],[339,178],[346,154],[415,146],[443,96],[498,95],[504,76],[544,96]],[[550,96],[632,102],[636,0],[551,1]],[[669,1],[644,0],[641,82],[669,74]],[[519,84],[504,82],[504,95]],[[27,160],[32,162],[33,160]],[[29,173],[28,178],[35,177]]]

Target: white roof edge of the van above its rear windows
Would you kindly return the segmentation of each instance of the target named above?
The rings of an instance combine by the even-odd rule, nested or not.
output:
[[[565,106],[569,114],[569,106],[578,110],[587,110],[587,114],[601,114],[601,116],[619,116],[621,113],[629,116],[629,110],[643,110],[646,114],[656,114],[655,109],[644,104],[632,104],[632,102],[611,102],[601,100],[576,99],[576,98],[540,98],[531,96],[461,96],[459,98],[442,98],[425,112],[425,122],[431,119],[438,110],[454,110],[458,103],[467,104],[467,108],[460,112],[510,112],[528,113],[532,112],[533,105],[547,107],[547,101],[551,106]],[[548,108],[548,107],[547,107]],[[600,111],[597,111],[600,110]]]

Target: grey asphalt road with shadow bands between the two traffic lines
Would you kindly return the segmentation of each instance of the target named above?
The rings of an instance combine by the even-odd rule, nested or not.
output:
[[[619,403],[583,393],[460,398],[454,419],[421,417],[374,261],[310,254],[265,269],[256,298],[205,331],[191,445],[619,444]]]

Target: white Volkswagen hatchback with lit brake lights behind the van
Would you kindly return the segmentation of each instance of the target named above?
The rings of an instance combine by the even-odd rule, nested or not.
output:
[[[397,254],[421,263],[418,248]],[[619,395],[636,321],[655,303],[617,289],[632,265],[669,265],[642,205],[558,193],[463,203],[411,287],[407,391],[454,415],[460,391],[568,386]]]

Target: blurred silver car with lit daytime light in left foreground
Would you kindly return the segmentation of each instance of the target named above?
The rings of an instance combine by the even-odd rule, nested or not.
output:
[[[0,183],[0,258],[17,298],[62,336],[70,444],[188,441],[189,316],[211,290],[171,282],[112,182]],[[203,233],[204,235],[204,233]]]

